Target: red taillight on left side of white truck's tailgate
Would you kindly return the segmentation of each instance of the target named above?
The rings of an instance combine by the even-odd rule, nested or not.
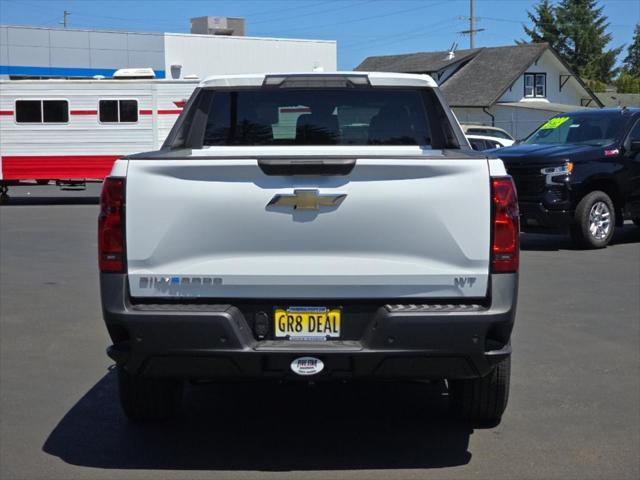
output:
[[[102,185],[98,263],[101,272],[124,271],[124,178],[107,177]]]

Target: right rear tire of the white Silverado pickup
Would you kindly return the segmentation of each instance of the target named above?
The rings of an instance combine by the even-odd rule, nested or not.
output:
[[[485,377],[449,380],[451,406],[465,420],[498,425],[507,408],[511,357],[498,363]]]

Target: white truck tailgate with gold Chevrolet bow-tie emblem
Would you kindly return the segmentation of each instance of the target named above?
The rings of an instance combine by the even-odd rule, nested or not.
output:
[[[131,160],[127,185],[133,297],[487,292],[483,159],[358,158],[349,174],[331,176],[267,175],[251,158]]]

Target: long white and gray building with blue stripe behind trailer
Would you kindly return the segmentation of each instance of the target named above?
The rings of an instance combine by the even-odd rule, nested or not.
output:
[[[0,25],[0,79],[111,77],[144,67],[160,79],[331,71],[336,50],[334,40]]]

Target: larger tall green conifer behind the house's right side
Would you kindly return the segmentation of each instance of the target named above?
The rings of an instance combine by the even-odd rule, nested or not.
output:
[[[556,6],[541,0],[537,15],[529,13],[533,28],[525,27],[525,33],[533,42],[549,42],[582,78],[610,83],[622,47],[607,49],[611,34],[602,10],[596,0],[560,0]]]

